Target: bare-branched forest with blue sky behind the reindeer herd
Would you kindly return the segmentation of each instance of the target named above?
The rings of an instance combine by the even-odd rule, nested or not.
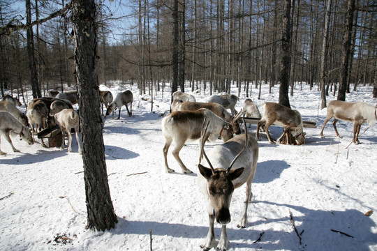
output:
[[[0,1],[2,94],[75,88],[70,6]],[[302,84],[324,96],[374,85],[376,97],[376,7],[373,0],[98,0],[99,83],[121,80],[149,95],[165,84],[209,94],[235,84],[247,96],[261,84],[285,84],[287,96]]]

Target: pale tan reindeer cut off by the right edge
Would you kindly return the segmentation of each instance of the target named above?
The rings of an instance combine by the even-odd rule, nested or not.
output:
[[[355,144],[360,144],[359,142],[359,132],[363,123],[367,122],[369,126],[373,126],[377,120],[377,105],[374,107],[368,105],[365,102],[345,102],[341,100],[332,100],[327,105],[327,115],[325,122],[323,123],[322,130],[320,130],[320,137],[323,137],[323,130],[325,129],[326,123],[330,119],[334,118],[332,121],[332,126],[334,126],[335,133],[339,138],[339,132],[337,130],[337,122],[340,120],[353,122],[353,138],[352,142]]]

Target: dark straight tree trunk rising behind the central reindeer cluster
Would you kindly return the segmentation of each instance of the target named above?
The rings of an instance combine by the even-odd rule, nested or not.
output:
[[[178,90],[178,64],[179,64],[179,16],[178,0],[173,1],[173,44],[172,44],[172,93]]]

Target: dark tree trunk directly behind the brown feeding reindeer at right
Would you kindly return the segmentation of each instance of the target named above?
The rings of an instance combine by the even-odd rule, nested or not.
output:
[[[284,0],[283,8],[283,38],[281,39],[281,74],[279,104],[290,108],[288,91],[290,79],[290,0]]]

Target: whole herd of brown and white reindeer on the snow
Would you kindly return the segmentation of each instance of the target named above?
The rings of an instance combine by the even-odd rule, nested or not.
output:
[[[129,90],[117,93],[113,98],[110,91],[99,92],[101,110],[106,107],[105,116],[119,109],[117,119],[120,119],[121,107],[126,106],[128,116],[132,116],[133,93]],[[186,142],[200,142],[200,158],[198,160],[198,187],[207,200],[207,213],[209,215],[209,232],[201,247],[204,250],[216,248],[226,250],[228,248],[228,236],[226,225],[230,222],[230,201],[232,192],[246,183],[246,198],[244,211],[238,227],[247,225],[247,208],[253,194],[251,183],[256,174],[260,141],[260,130],[264,130],[268,141],[274,143],[269,134],[272,125],[283,127],[283,133],[276,139],[276,143],[304,144],[305,132],[302,116],[297,110],[284,107],[275,102],[265,102],[258,106],[250,99],[244,100],[244,106],[240,112],[235,110],[239,98],[235,95],[211,96],[207,102],[196,102],[195,97],[181,91],[172,93],[171,113],[161,121],[162,135],[165,139],[163,145],[163,159],[165,171],[175,172],[168,165],[168,151],[174,142],[172,155],[177,160],[184,174],[192,171],[184,165],[179,152]],[[18,151],[10,140],[10,135],[19,135],[27,144],[34,144],[34,137],[38,130],[60,126],[63,135],[68,135],[68,151],[72,151],[71,129],[74,128],[81,153],[81,139],[79,135],[79,116],[73,105],[78,103],[77,93],[49,92],[44,98],[30,100],[27,105],[27,115],[20,112],[16,106],[21,103],[17,98],[4,96],[0,102],[0,132],[12,146],[13,151]],[[128,104],[130,109],[128,109]],[[231,114],[227,111],[230,109]],[[244,117],[258,119],[256,137],[247,132]],[[330,119],[337,137],[341,137],[337,131],[336,123],[339,120],[351,121],[354,124],[352,142],[359,144],[359,133],[362,123],[373,126],[377,120],[377,105],[368,105],[365,102],[331,101],[327,107],[327,116],[320,131],[323,130]],[[244,123],[245,132],[241,133],[239,124]],[[29,129],[29,124],[31,129]],[[223,144],[215,146],[207,155],[205,143],[214,142],[221,138]],[[41,140],[43,146],[46,144]],[[64,149],[64,139],[61,145]],[[0,155],[4,155],[0,149]],[[204,155],[204,160],[202,159]],[[214,221],[222,225],[221,236],[216,243],[214,235]]]

